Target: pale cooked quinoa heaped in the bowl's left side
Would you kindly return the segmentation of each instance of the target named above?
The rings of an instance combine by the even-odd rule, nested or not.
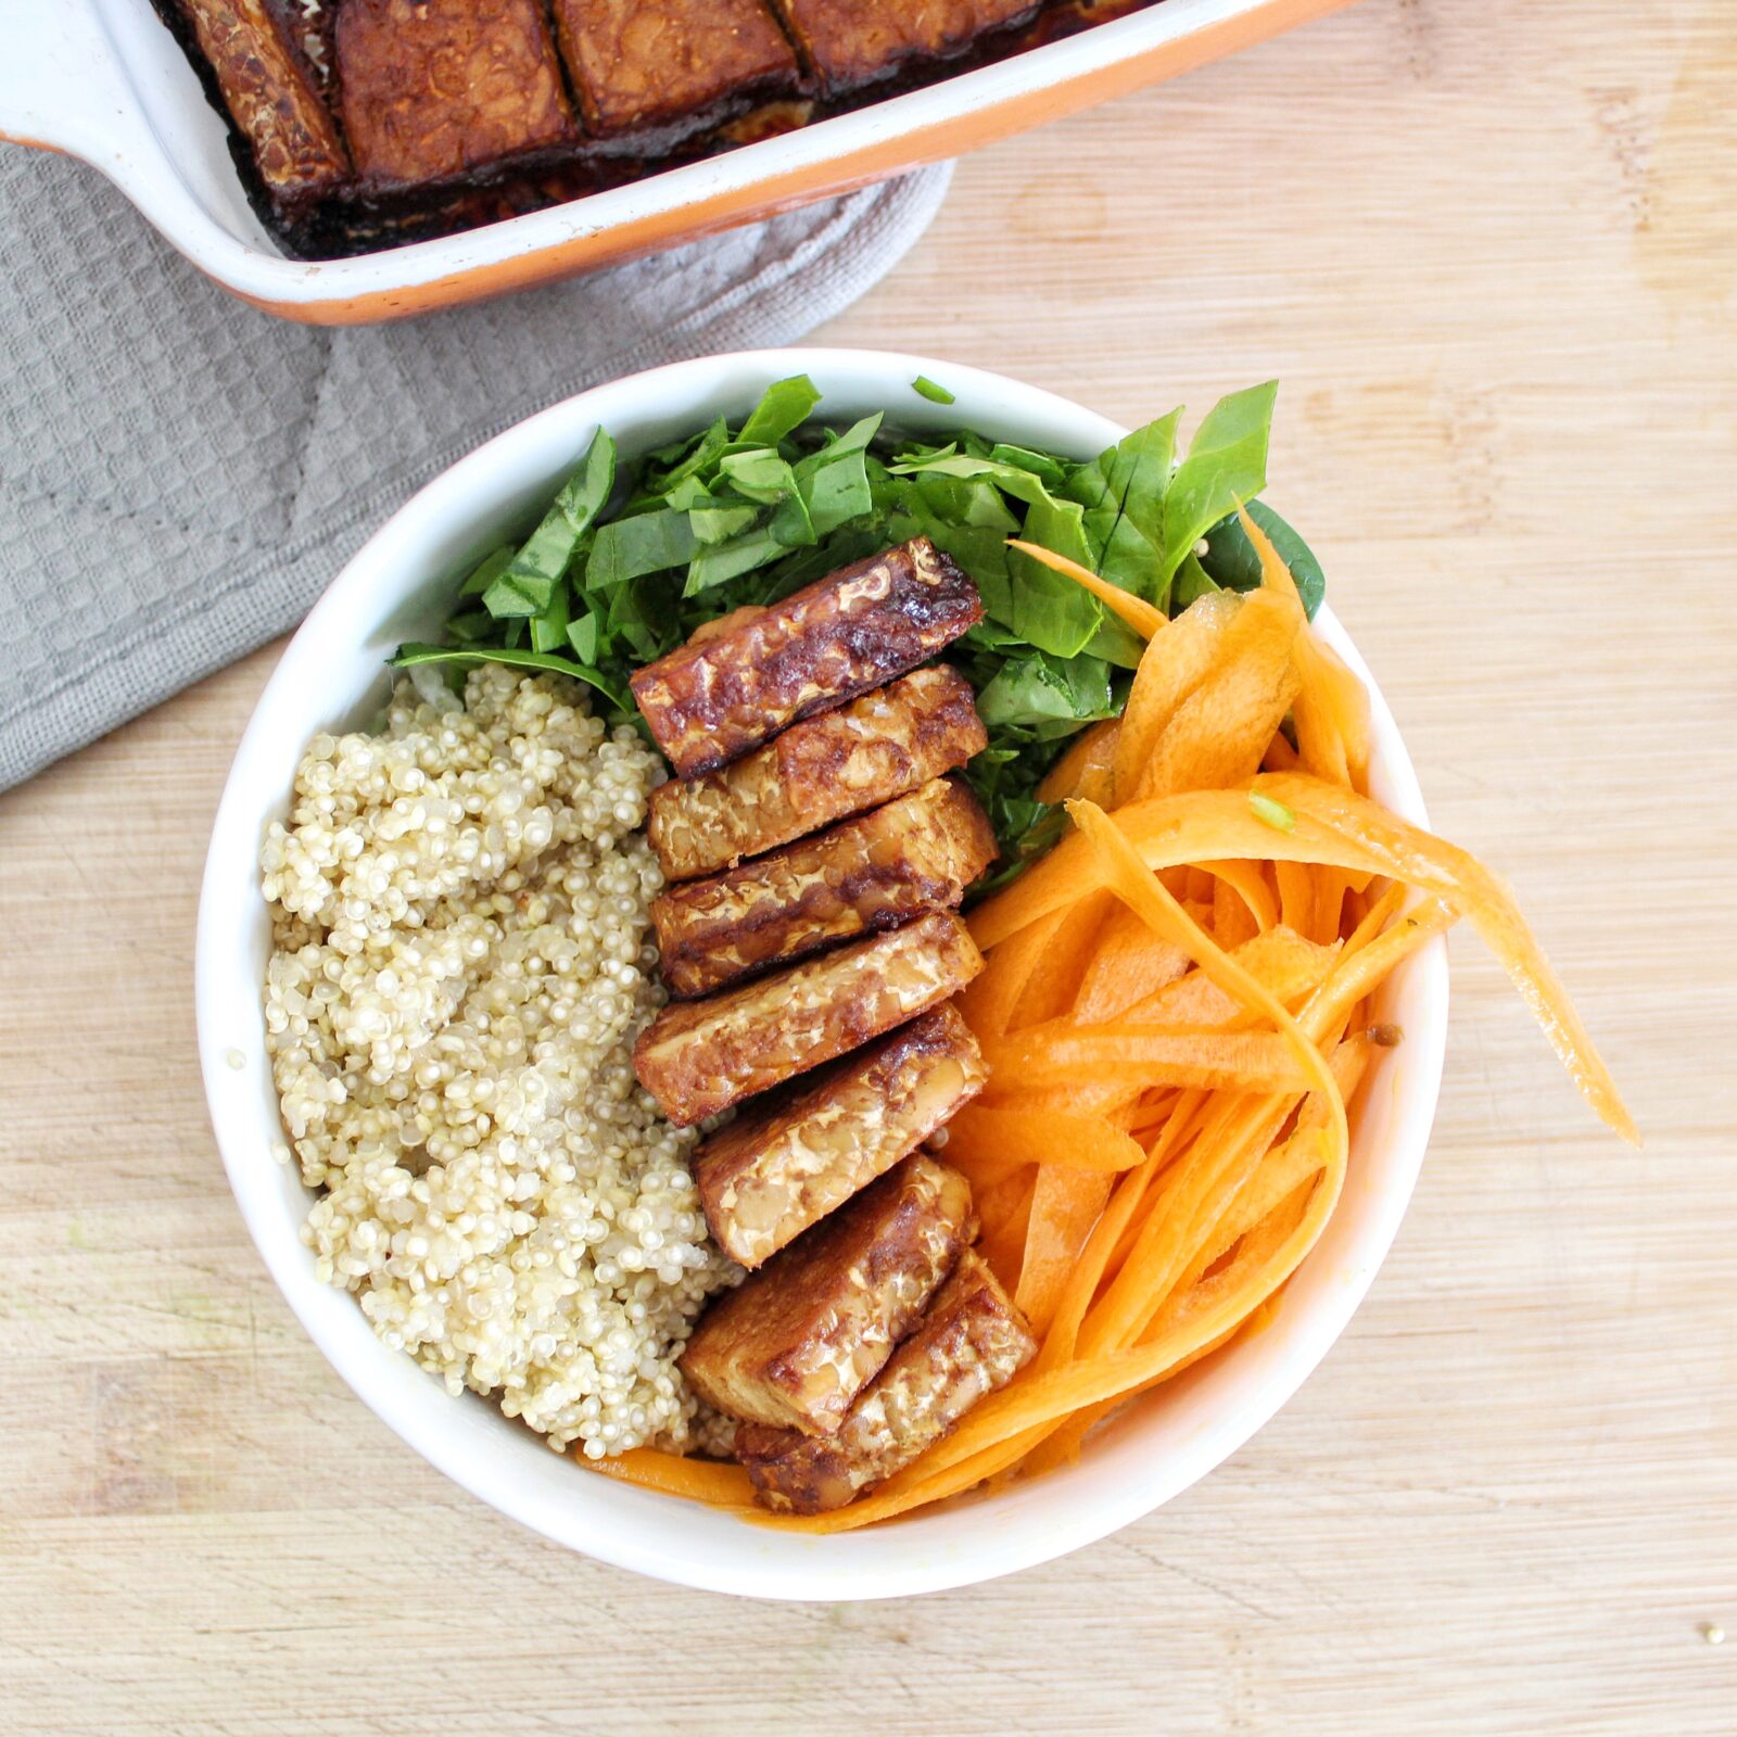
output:
[[[709,1440],[676,1355],[735,1277],[695,1133],[639,1089],[662,1001],[658,761],[559,676],[401,681],[320,735],[261,851],[266,1032],[321,1190],[304,1240],[375,1332],[592,1457]]]

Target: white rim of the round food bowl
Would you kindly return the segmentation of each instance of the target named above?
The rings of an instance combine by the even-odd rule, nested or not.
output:
[[[1331,1271],[1320,1270],[1329,1263],[1325,1249],[1317,1245],[1291,1280],[1287,1306],[1278,1311],[1273,1327],[1238,1341],[1225,1357],[1211,1358],[1157,1395],[1148,1395],[1139,1402],[1138,1416],[1124,1417],[1112,1428],[1122,1436],[1146,1433],[1152,1419],[1162,1416],[1152,1409],[1152,1400],[1185,1388],[1190,1400],[1197,1390],[1211,1397],[1219,1386],[1237,1384],[1235,1370],[1254,1370],[1251,1395],[1240,1403],[1226,1403],[1223,1414],[1214,1412],[1190,1430],[1172,1443],[1169,1457],[1162,1452],[1143,1456],[1133,1475],[1113,1476],[1106,1487],[1096,1489],[1094,1480],[1077,1476],[1093,1461],[1086,1456],[1082,1466],[995,1497],[968,1499],[943,1513],[860,1534],[808,1537],[750,1527],[677,1497],[603,1476],[585,1478],[568,1456],[547,1452],[518,1426],[507,1428],[523,1435],[544,1466],[570,1483],[544,1478],[535,1463],[514,1449],[502,1452],[505,1436],[492,1433],[495,1424],[504,1423],[495,1407],[488,1402],[453,1403],[434,1377],[375,1337],[351,1294],[320,1284],[301,1242],[306,1209],[290,1219],[283,1200],[285,1166],[271,1157],[269,1141],[259,1138],[261,1080],[273,1117],[276,1094],[264,1056],[261,985],[257,978],[245,976],[247,947],[238,941],[243,933],[238,921],[252,921],[257,929],[257,921],[247,915],[243,884],[252,888],[259,917],[264,915],[257,893],[259,835],[264,820],[281,813],[287,794],[287,783],[264,768],[281,761],[285,752],[294,766],[306,740],[323,728],[306,724],[290,749],[280,745],[283,714],[306,710],[302,695],[309,677],[318,683],[321,648],[330,643],[334,625],[347,622],[365,604],[379,610],[382,603],[403,601],[406,587],[419,578],[406,563],[417,559],[419,545],[431,535],[429,526],[441,523],[443,512],[478,521],[493,512],[500,519],[504,493],[514,486],[516,476],[523,479],[533,467],[545,471],[549,452],[571,450],[577,457],[578,445],[596,426],[625,426],[634,415],[646,415],[646,405],[698,405],[721,396],[740,401],[743,393],[797,372],[813,375],[829,400],[860,387],[882,393],[884,401],[893,403],[895,394],[922,373],[955,389],[959,405],[968,406],[959,413],[976,420],[983,420],[985,406],[990,406],[990,419],[999,406],[1020,420],[1073,427],[1086,441],[1108,443],[1126,433],[1070,400],[987,370],[895,351],[787,347],[705,356],[625,375],[577,393],[493,436],[412,495],[356,551],[316,601],[261,691],[212,825],[196,922],[195,1002],[207,1106],[248,1233],[321,1355],[406,1445],[492,1508],[615,1567],[749,1596],[865,1600],[973,1584],[1096,1542],[1188,1489],[1280,1410],[1350,1324],[1391,1247],[1416,1186],[1445,1056],[1447,950],[1436,938],[1395,974],[1397,980],[1403,974],[1414,1011],[1407,1018],[1405,1046],[1391,1053],[1400,1060],[1384,1061],[1384,1067],[1395,1068],[1390,1080],[1391,1113],[1383,1101],[1377,1120],[1384,1127],[1397,1117],[1398,1127],[1377,1145],[1384,1181],[1379,1188],[1374,1181],[1364,1188],[1362,1216],[1337,1238],[1346,1247],[1332,1258]],[[846,382],[844,389],[829,389],[829,380],[835,387]],[[910,415],[921,419],[933,415],[935,408],[912,403]],[[695,408],[683,415],[697,419],[700,412]],[[452,507],[455,497],[459,505]],[[426,575],[420,577],[426,582]],[[1317,622],[1369,688],[1374,768],[1384,785],[1383,797],[1397,813],[1424,825],[1417,778],[1386,700],[1331,610],[1324,608]],[[254,1025],[241,1032],[236,1021],[248,999]],[[248,1053],[236,1047],[240,1042],[250,1044]],[[241,1087],[250,1091],[252,1108]],[[1370,1096],[1365,1091],[1365,1100]],[[1365,1103],[1358,1122],[1372,1113]],[[281,1141],[281,1127],[274,1138]],[[290,1176],[294,1188],[301,1190],[294,1169]],[[1348,1214],[1351,1192],[1348,1186],[1329,1235]],[[1299,1292],[1306,1301],[1292,1304],[1292,1296]],[[1221,1379],[1226,1369],[1233,1374]],[[438,1402],[438,1409],[431,1409],[431,1400]],[[1176,1403],[1186,1410],[1190,1400]],[[1119,1442],[1113,1450],[1122,1454],[1127,1445],[1133,1443]],[[1148,1464],[1148,1457],[1155,1464]],[[1075,1499],[1051,1511],[1058,1506],[1058,1494]],[[994,1509],[997,1523],[983,1527],[980,1518],[988,1509]]]

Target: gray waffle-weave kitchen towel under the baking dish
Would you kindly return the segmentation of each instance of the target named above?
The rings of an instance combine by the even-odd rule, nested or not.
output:
[[[948,175],[316,330],[207,283],[94,170],[0,151],[0,789],[294,625],[380,519],[509,424],[846,307]]]

